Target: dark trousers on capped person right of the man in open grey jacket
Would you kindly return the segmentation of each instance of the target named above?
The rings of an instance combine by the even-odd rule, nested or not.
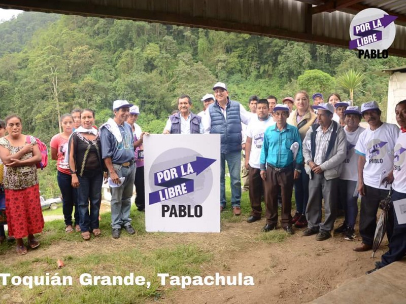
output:
[[[339,198],[344,200],[344,202],[342,202],[345,212],[344,223],[351,228],[354,228],[355,220],[357,219],[358,215],[358,192],[356,192],[357,185],[358,182],[355,180],[339,180]],[[354,196],[354,193],[356,196]]]

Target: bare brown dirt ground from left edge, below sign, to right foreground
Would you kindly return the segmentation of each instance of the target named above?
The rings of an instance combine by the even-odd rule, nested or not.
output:
[[[263,224],[263,221],[248,224],[241,219],[241,222],[222,224],[219,234],[158,233],[118,240],[92,239],[90,242],[78,238],[78,242],[58,242],[19,258],[60,258],[66,252],[73,256],[94,252],[111,254],[123,248],[148,251],[177,244],[195,244],[213,253],[213,259],[202,265],[203,276],[216,272],[223,276],[242,273],[243,276],[252,276],[255,286],[190,286],[169,292],[159,302],[296,304],[311,301],[341,283],[364,275],[387,248],[381,245],[377,258],[371,259],[370,251],[352,251],[359,240],[350,242],[342,236],[334,236],[317,242],[315,236],[301,237],[299,230],[282,243],[267,244],[255,240]],[[386,244],[386,240],[383,243]],[[12,263],[15,255],[6,254],[2,259]]]

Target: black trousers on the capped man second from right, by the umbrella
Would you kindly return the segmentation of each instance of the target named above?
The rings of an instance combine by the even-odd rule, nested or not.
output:
[[[364,185],[365,196],[361,197],[361,210],[359,212],[359,234],[362,243],[372,246],[375,230],[377,229],[377,212],[379,202],[388,196],[389,190]],[[388,212],[386,236],[390,240],[393,231],[393,213]]]

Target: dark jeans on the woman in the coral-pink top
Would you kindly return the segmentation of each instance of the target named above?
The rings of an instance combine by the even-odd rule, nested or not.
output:
[[[72,211],[75,206],[75,225],[79,224],[78,192],[72,187],[72,176],[58,171],[58,186],[62,194],[62,212],[65,225],[72,225]]]

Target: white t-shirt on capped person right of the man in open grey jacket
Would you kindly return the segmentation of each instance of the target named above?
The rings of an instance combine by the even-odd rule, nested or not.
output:
[[[355,153],[355,145],[359,135],[365,131],[365,128],[359,126],[354,132],[349,132],[346,126],[344,131],[347,135],[347,156],[343,162],[340,179],[358,181],[358,155]]]

